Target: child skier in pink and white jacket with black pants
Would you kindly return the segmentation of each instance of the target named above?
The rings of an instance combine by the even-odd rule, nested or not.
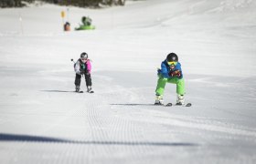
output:
[[[80,58],[75,64],[75,72],[76,72],[76,79],[75,79],[76,92],[82,92],[80,91],[80,78],[84,76],[86,86],[87,86],[87,92],[93,93],[91,88],[91,61],[88,58],[87,53],[83,52],[80,54]]]

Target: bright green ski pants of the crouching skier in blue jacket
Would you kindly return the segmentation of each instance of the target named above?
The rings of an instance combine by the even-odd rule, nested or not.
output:
[[[178,79],[177,77],[165,78],[163,76],[158,76],[157,86],[155,89],[155,95],[164,95],[165,84],[172,83],[176,84],[176,94],[185,95],[185,82],[184,78]]]

